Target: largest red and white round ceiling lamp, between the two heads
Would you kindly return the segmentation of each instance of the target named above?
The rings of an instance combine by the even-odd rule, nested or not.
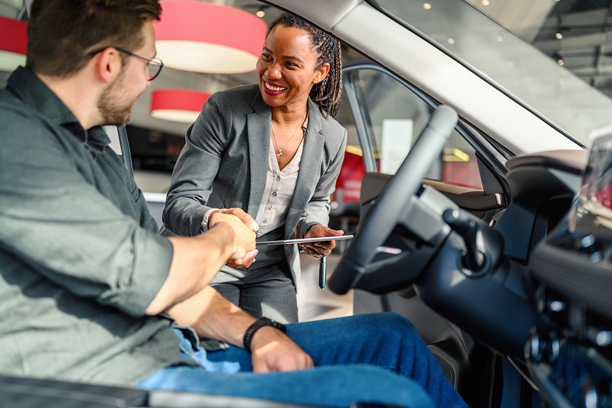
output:
[[[157,56],[171,68],[207,73],[255,70],[266,37],[261,18],[234,7],[162,0],[154,21]]]

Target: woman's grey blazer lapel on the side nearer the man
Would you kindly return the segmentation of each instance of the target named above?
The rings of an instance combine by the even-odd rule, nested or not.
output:
[[[266,188],[272,109],[263,101],[259,92],[255,99],[253,99],[253,102],[251,102],[251,106],[254,112],[247,114],[247,149],[251,171],[247,212],[251,217],[255,218],[257,217],[259,204],[261,204],[264,188]]]

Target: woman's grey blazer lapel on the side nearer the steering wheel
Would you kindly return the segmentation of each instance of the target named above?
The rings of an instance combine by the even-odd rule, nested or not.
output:
[[[302,149],[302,160],[300,160],[300,170],[297,174],[296,190],[293,193],[291,206],[285,224],[285,237],[293,234],[297,222],[302,217],[303,209],[310,199],[316,184],[319,181],[319,169],[323,161],[323,144],[325,136],[321,133],[323,128],[323,116],[319,113],[319,106],[308,98],[308,127],[304,138],[304,149]],[[268,130],[268,132],[270,132]],[[269,138],[268,138],[269,139]],[[270,146],[268,146],[269,148]],[[302,238],[304,237],[302,231]]]

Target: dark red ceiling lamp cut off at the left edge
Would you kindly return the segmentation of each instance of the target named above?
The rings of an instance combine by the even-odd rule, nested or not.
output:
[[[0,70],[12,71],[26,65],[28,23],[0,16]]]

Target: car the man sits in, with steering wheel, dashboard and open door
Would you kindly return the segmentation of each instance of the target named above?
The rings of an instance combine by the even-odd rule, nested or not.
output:
[[[523,61],[477,66],[427,31],[423,2],[264,3],[365,56],[343,67],[365,168],[359,225],[327,286],[353,291],[354,314],[407,317],[471,408],[612,407],[612,102],[499,24],[491,46],[503,37]],[[427,4],[493,30],[457,3]],[[108,133],[132,171],[125,128]],[[4,406],[294,407],[0,377]]]

